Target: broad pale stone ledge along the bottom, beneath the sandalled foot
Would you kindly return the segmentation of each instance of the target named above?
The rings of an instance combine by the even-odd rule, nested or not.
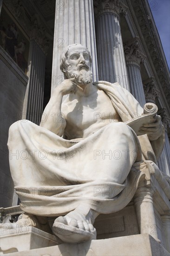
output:
[[[43,244],[44,246],[44,244]],[[79,244],[59,245],[8,253],[6,256],[170,256],[150,235],[121,236]]]

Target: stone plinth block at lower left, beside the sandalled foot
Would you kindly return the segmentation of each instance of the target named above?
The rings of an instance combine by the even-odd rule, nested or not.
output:
[[[0,229],[0,255],[47,248],[59,243],[56,236],[33,227],[23,225],[18,229]]]

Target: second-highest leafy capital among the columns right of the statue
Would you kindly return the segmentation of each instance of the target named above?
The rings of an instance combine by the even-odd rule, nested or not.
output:
[[[124,55],[126,65],[134,64],[140,67],[140,64],[144,63],[146,56],[141,52],[139,37],[124,43]]]

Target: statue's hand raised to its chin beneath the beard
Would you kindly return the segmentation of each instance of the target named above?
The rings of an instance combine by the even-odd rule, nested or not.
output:
[[[62,84],[57,86],[56,90],[62,95],[76,93],[77,84],[75,83],[75,78],[65,79],[64,81],[62,81]]]

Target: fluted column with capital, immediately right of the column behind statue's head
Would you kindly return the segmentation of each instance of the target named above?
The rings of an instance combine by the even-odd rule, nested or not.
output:
[[[96,41],[99,80],[118,82],[129,91],[120,15],[127,9],[122,0],[96,0]]]

